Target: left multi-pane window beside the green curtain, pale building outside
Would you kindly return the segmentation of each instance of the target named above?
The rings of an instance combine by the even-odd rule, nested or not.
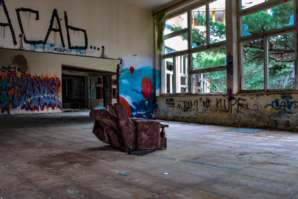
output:
[[[168,16],[164,30],[163,94],[226,92],[225,0],[202,1]]]

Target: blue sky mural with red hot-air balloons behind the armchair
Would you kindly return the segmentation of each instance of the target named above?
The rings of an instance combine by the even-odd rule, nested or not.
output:
[[[151,67],[134,69],[132,67],[122,70],[119,78],[119,101],[128,107],[128,115],[136,118],[152,118],[155,110],[156,92],[159,89],[159,71]],[[130,109],[130,110],[129,110]]]

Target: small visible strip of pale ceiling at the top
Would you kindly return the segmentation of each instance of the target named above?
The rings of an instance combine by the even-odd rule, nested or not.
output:
[[[177,0],[117,0],[123,3],[132,4],[136,7],[141,7],[146,10],[157,10],[171,2]]]

